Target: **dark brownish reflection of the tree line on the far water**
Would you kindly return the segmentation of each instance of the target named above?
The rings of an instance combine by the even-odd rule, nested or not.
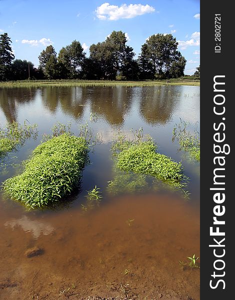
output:
[[[22,103],[36,102],[51,114],[59,110],[79,119],[89,108],[99,118],[111,125],[123,124],[133,109],[147,123],[165,124],[172,118],[179,102],[182,102],[185,86],[73,86],[73,87],[24,87],[0,89],[0,108],[7,121],[17,120]],[[188,89],[190,92],[190,89]],[[35,101],[36,99],[36,101]],[[180,102],[180,105],[182,103]],[[31,105],[31,103],[30,103]],[[36,107],[30,107],[31,110]]]

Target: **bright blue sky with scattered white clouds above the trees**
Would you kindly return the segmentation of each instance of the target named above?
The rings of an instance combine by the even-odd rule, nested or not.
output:
[[[184,73],[199,65],[199,0],[0,0],[0,34],[8,33],[15,58],[35,67],[49,44],[58,53],[79,40],[88,56],[113,30],[125,32],[135,58],[150,35],[171,33],[187,60]]]

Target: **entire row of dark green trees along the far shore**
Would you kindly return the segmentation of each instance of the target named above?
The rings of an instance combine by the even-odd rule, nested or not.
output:
[[[164,79],[184,75],[186,60],[177,50],[172,34],[153,34],[141,46],[134,59],[133,48],[126,45],[122,31],[112,31],[102,42],[89,47],[86,57],[81,43],[73,40],[58,54],[48,45],[38,56],[35,68],[27,60],[14,59],[11,40],[7,33],[0,34],[0,80],[23,79]]]

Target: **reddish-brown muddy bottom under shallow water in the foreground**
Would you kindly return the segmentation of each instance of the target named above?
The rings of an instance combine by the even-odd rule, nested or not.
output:
[[[199,269],[179,264],[199,256],[199,208],[183,199],[118,196],[87,211],[40,213],[16,206],[1,210],[0,228],[2,300],[199,299]]]

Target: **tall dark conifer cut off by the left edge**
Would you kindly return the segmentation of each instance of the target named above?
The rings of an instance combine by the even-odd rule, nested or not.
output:
[[[10,47],[11,40],[7,33],[0,34],[0,80],[7,80],[14,54]]]

